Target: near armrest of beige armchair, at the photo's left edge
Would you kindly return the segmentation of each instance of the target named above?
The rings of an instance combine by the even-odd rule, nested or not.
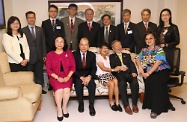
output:
[[[0,87],[0,100],[16,99],[19,94],[19,87]]]

